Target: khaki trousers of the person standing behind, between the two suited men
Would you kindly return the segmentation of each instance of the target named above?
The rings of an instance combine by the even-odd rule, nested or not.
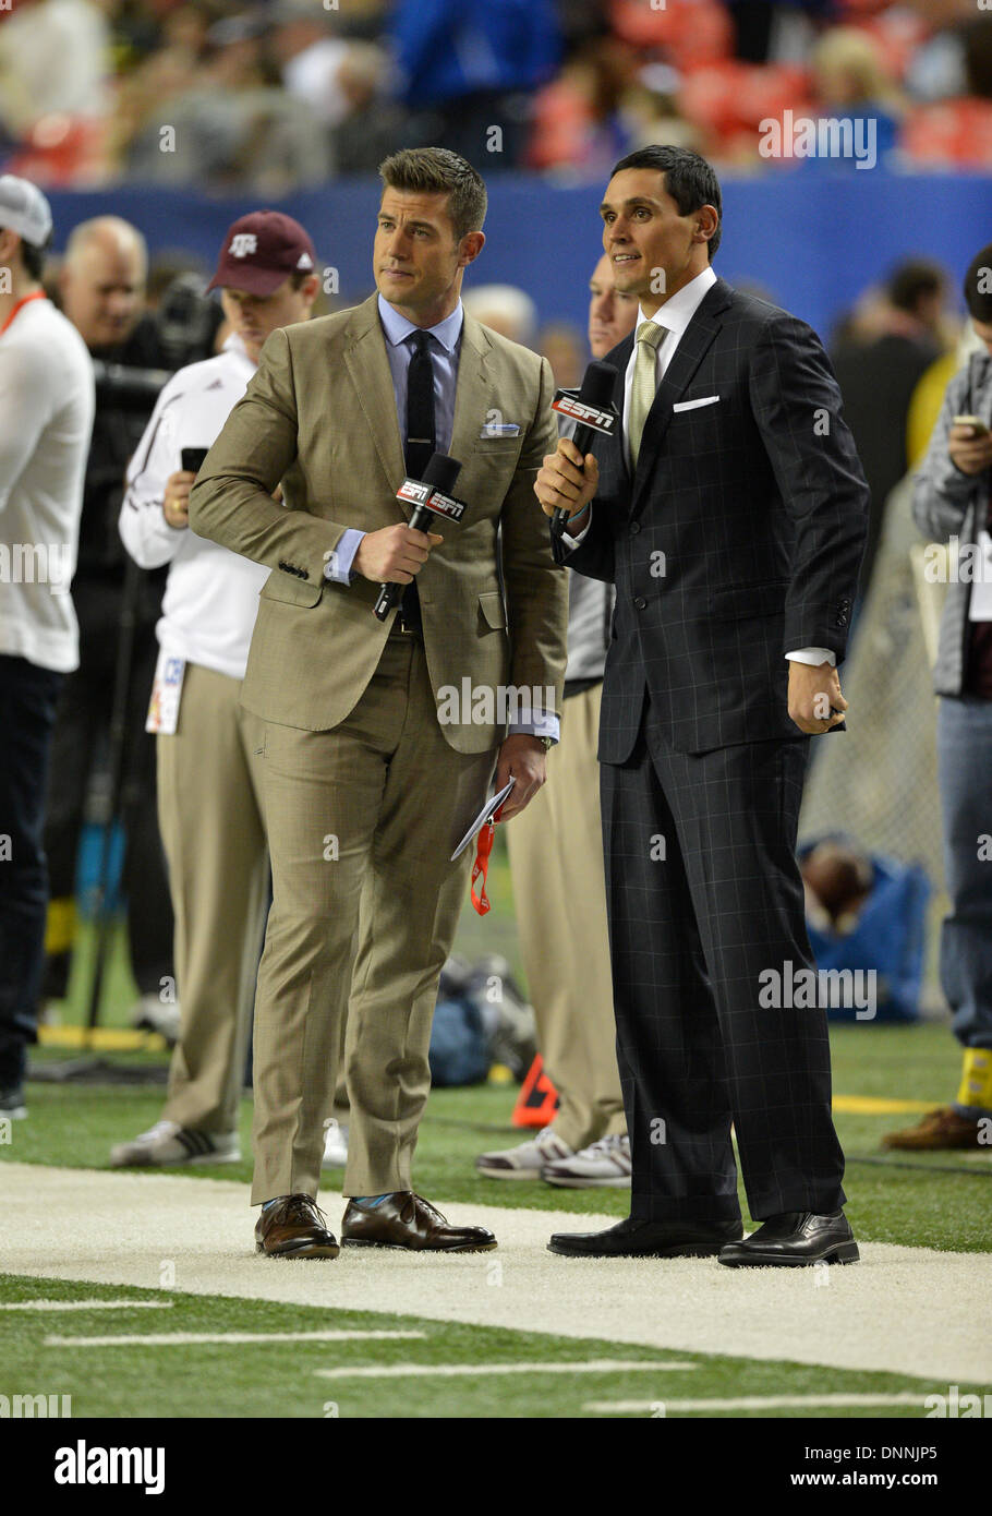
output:
[[[516,929],[538,1046],[569,1148],[624,1132],[606,925],[597,684],[562,703],[548,782],[506,828]]]

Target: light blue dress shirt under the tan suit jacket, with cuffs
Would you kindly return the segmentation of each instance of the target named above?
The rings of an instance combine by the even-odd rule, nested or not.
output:
[[[457,364],[462,350],[462,326],[465,323],[465,308],[462,302],[454,306],[451,315],[436,326],[415,326],[407,321],[395,306],[379,296],[379,320],[386,338],[386,358],[392,374],[392,393],[397,403],[397,421],[400,435],[406,424],[406,376],[413,356],[413,344],[409,338],[415,332],[427,330],[433,338],[430,358],[435,370],[435,446],[439,453],[447,453],[451,446],[454,431],[454,393],[457,390]],[[324,576],[333,584],[351,584],[354,555],[365,532],[357,528],[347,528],[333,556],[324,565]],[[521,711],[523,714],[523,711]],[[532,711],[530,720],[510,725],[510,734],[526,734],[529,737],[550,737],[559,740],[559,719],[553,711]]]

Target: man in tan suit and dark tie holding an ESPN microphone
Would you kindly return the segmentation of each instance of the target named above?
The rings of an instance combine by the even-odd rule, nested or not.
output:
[[[415,1195],[410,1164],[471,857],[450,855],[494,766],[497,785],[515,779],[506,819],[544,784],[565,667],[566,582],[530,503],[556,437],[551,370],[460,305],[485,185],[441,149],[380,173],[379,293],[273,334],[189,502],[195,532],[271,568],[242,690],[265,722],[273,860],[251,1198],[270,1255],[338,1252],[314,1201],[348,998],[342,1240],[495,1246]],[[460,461],[466,511],[424,534],[397,488],[435,449]],[[380,582],[406,587],[385,623]]]

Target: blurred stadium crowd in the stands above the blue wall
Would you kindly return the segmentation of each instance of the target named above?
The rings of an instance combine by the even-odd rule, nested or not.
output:
[[[653,141],[759,170],[762,124],[812,114],[872,118],[892,168],[987,165],[992,15],[974,0],[0,9],[0,165],[45,185],[274,196],[374,173],[398,146],[465,152],[489,123],[488,173],[589,179]]]

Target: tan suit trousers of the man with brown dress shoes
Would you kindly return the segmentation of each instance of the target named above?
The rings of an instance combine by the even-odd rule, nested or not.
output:
[[[253,1205],[317,1196],[345,1013],[344,1193],[413,1187],[438,978],[473,857],[450,855],[494,763],[495,750],[445,741],[413,637],[389,637],[339,726],[265,726],[273,908],[254,1005]]]

